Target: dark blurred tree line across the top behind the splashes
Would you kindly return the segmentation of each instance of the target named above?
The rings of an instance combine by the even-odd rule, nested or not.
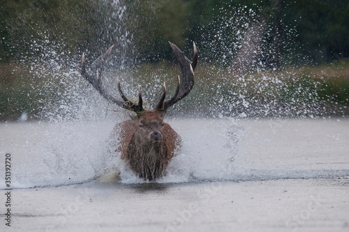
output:
[[[236,55],[256,17],[266,20],[262,43],[273,55],[260,60],[268,64],[278,65],[279,53],[298,60],[295,51],[316,64],[349,56],[347,0],[1,0],[0,62],[42,56],[50,46],[69,57],[112,43],[120,55],[157,61],[172,57],[167,41],[188,49],[195,41],[202,58],[220,60]]]

